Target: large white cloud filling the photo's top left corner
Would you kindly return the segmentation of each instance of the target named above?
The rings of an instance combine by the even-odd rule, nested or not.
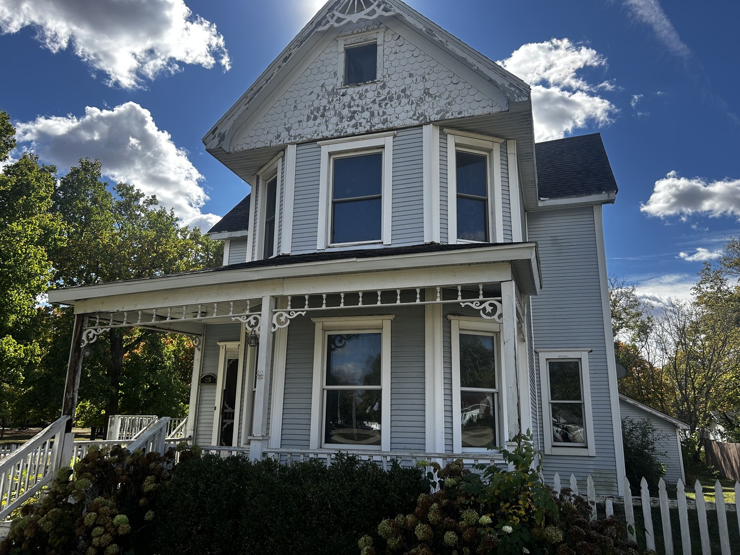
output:
[[[75,54],[108,75],[107,83],[141,87],[142,78],[175,73],[178,62],[224,70],[229,53],[215,24],[193,16],[183,0],[3,0],[0,31],[36,28],[53,53]]]

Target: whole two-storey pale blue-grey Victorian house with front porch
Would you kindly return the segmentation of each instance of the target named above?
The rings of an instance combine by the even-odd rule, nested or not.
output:
[[[203,138],[252,185],[223,267],[50,292],[73,360],[115,326],[196,337],[189,432],[255,459],[500,463],[531,430],[548,482],[616,493],[616,182],[600,135],[532,126],[527,84],[402,1],[329,2]]]

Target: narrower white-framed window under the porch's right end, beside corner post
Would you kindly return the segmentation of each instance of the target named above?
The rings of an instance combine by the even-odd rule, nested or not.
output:
[[[453,448],[488,451],[500,441],[500,326],[465,317],[450,322]]]

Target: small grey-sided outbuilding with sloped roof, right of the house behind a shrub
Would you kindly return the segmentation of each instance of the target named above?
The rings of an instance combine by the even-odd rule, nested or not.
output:
[[[622,418],[632,420],[650,420],[656,429],[656,448],[664,453],[659,457],[660,462],[665,465],[666,482],[676,483],[679,479],[686,482],[684,474],[684,459],[681,454],[682,431],[687,431],[689,425],[676,420],[667,414],[656,411],[647,405],[643,405],[627,395],[619,394],[619,412]],[[639,490],[639,484],[631,484],[632,491]]]

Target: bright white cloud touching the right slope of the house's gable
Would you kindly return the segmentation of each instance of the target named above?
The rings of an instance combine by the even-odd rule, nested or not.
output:
[[[537,141],[562,138],[588,124],[609,124],[619,111],[595,94],[613,90],[613,83],[591,84],[579,75],[586,67],[606,67],[606,58],[568,38],[525,44],[497,63],[531,85]]]

